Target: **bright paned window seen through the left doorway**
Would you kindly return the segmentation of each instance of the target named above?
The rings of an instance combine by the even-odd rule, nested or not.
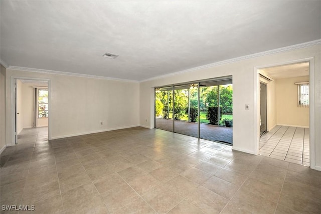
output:
[[[48,89],[40,89],[37,88],[37,111],[36,111],[36,126],[48,126],[48,116],[49,116],[49,109],[48,109]]]

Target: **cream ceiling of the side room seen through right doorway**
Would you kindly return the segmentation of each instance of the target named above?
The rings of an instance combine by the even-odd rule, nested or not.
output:
[[[309,63],[296,63],[260,69],[273,79],[309,76]]]

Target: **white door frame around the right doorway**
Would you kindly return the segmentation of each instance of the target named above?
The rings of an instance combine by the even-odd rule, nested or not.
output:
[[[254,67],[254,151],[255,154],[259,154],[259,143],[260,143],[260,75],[259,70],[268,67],[282,66],[295,63],[309,63],[309,140],[310,140],[310,168],[315,169],[315,108],[314,108],[314,57],[303,58],[298,60],[286,61],[282,63],[269,64],[264,66]]]

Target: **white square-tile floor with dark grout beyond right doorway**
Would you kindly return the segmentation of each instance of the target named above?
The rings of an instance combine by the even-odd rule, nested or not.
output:
[[[259,154],[309,166],[309,129],[276,126],[261,137]]]

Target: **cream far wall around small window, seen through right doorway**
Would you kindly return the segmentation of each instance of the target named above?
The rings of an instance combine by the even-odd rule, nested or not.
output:
[[[276,80],[277,124],[309,127],[309,108],[297,106],[297,85],[295,82],[309,81],[309,77],[294,77]]]

